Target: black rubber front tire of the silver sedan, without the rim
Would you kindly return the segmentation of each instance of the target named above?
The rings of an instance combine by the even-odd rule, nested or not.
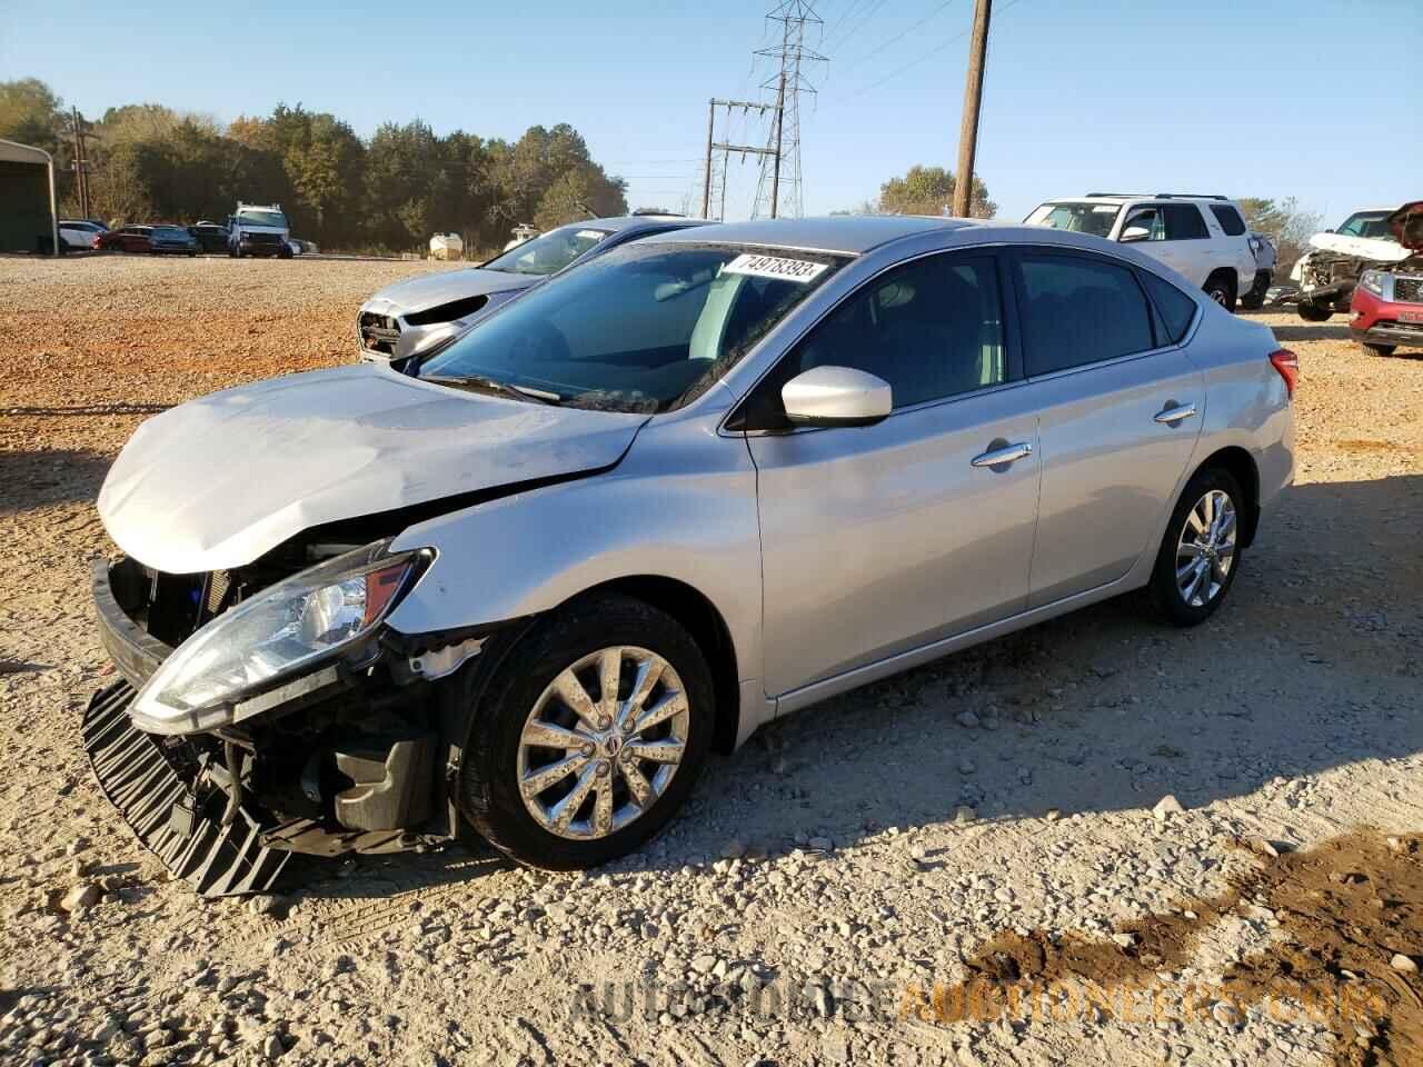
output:
[[[601,838],[564,838],[545,829],[524,805],[518,788],[519,736],[539,696],[559,673],[616,644],[662,656],[682,680],[689,704],[683,758],[646,814]],[[662,829],[692,792],[712,743],[716,697],[706,657],[666,612],[625,596],[573,602],[521,637],[482,693],[475,666],[454,680],[457,701],[472,701],[480,694],[464,745],[457,802],[471,827],[515,862],[575,871],[616,859]]]

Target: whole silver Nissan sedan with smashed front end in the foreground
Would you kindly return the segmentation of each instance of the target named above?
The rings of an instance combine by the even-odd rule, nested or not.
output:
[[[1136,250],[953,221],[628,245],[403,371],[226,390],[100,495],[84,740],[203,893],[292,852],[599,864],[713,747],[1147,586],[1207,619],[1296,361]]]

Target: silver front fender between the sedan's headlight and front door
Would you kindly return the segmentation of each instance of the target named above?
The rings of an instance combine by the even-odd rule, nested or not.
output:
[[[670,578],[721,615],[746,681],[761,670],[756,468],[716,418],[659,423],[612,471],[480,504],[404,531],[435,562],[390,616],[401,635],[548,612],[619,578]]]

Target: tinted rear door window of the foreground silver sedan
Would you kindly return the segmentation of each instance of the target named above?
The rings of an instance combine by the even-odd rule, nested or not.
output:
[[[1029,377],[1155,347],[1146,294],[1124,266],[1027,253],[1019,285]]]

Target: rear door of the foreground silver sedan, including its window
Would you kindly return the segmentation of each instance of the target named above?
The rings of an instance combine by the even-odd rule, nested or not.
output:
[[[1205,384],[1134,267],[1086,250],[1022,249],[1013,260],[1042,454],[1029,583],[1039,607],[1123,578],[1151,548],[1195,448]]]

